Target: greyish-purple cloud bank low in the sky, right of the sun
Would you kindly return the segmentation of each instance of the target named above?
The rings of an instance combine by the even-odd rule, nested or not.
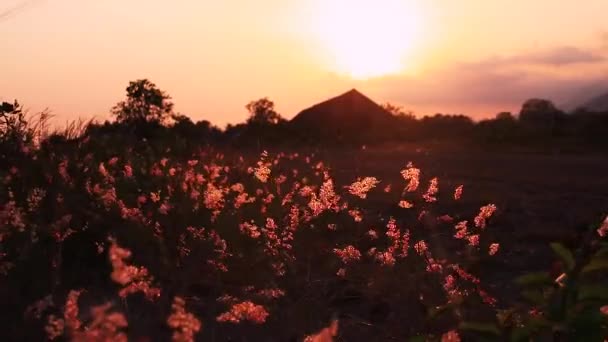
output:
[[[583,90],[585,96],[606,92],[608,62],[578,48],[556,48],[542,53],[453,63],[421,77],[374,80],[370,87],[379,96],[405,104],[414,111],[436,108],[443,112],[455,110],[477,117],[490,116],[500,110],[516,110],[532,97],[547,98],[562,105],[578,101]],[[489,108],[493,112],[471,113],[469,109],[473,107]]]

